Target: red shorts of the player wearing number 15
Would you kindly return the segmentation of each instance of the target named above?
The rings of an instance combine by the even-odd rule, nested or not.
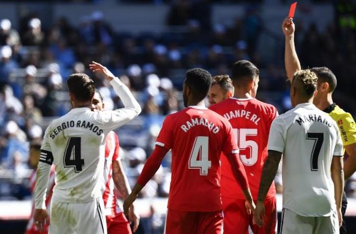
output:
[[[275,234],[277,225],[276,197],[264,201],[266,219],[263,227],[253,224],[248,215],[245,200],[221,197],[224,211],[224,234],[248,234],[250,226],[254,234]],[[256,201],[255,201],[256,203]]]

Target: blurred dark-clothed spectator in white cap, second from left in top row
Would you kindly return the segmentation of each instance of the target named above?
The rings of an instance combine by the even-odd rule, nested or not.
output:
[[[41,30],[41,20],[32,18],[28,21],[28,29],[22,37],[23,45],[42,45],[44,33]]]

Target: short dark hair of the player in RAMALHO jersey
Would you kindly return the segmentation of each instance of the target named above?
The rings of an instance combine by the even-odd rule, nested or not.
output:
[[[193,68],[185,74],[185,85],[189,86],[196,98],[204,99],[211,86],[211,74],[201,68]]]

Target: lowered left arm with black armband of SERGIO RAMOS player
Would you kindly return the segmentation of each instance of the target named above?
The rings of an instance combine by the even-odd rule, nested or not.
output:
[[[48,128],[47,128],[48,130]],[[40,232],[44,231],[44,224],[49,224],[49,215],[46,210],[46,190],[53,163],[53,155],[50,144],[47,140],[47,130],[44,133],[41,146],[40,161],[37,168],[36,188],[35,188],[35,211],[34,222]]]

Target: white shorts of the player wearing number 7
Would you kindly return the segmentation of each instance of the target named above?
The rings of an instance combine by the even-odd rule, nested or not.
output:
[[[339,234],[337,214],[307,217],[283,208],[280,234]]]

